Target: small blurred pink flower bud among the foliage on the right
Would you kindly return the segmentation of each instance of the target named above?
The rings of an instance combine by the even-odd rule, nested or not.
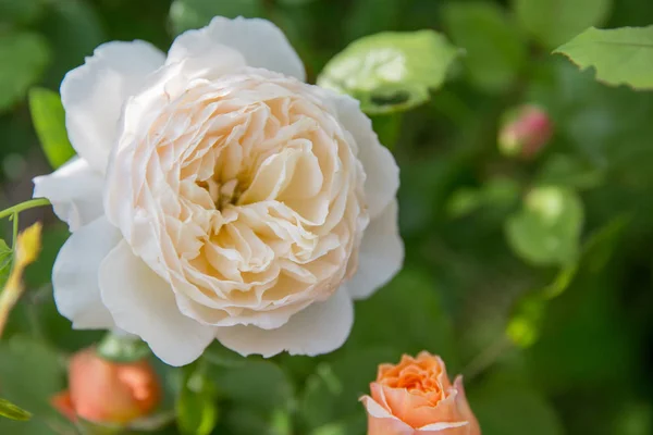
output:
[[[498,148],[508,157],[530,159],[544,147],[553,135],[549,113],[538,105],[527,104],[506,116],[498,133]]]

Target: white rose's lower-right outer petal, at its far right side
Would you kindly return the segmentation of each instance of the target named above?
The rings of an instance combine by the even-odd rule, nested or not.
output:
[[[370,222],[358,251],[358,271],[347,283],[354,299],[365,299],[402,269],[404,241],[399,236],[396,199]]]

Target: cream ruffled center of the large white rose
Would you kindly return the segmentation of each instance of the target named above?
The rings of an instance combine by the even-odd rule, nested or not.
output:
[[[274,327],[355,269],[365,173],[313,92],[261,70],[196,80],[138,144],[137,206],[171,248],[156,261],[206,322],[258,322],[266,311],[262,327]]]

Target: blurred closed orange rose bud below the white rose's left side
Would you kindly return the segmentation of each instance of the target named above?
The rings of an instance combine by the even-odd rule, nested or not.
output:
[[[84,349],[69,363],[69,390],[51,402],[73,421],[125,425],[151,413],[160,399],[159,380],[146,360],[118,363]]]

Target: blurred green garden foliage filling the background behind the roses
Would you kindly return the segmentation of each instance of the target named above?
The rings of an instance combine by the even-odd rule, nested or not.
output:
[[[411,103],[403,108],[421,104],[373,120],[402,167],[406,266],[356,303],[352,336],[331,355],[244,359],[214,344],[198,365],[161,364],[171,398],[164,408],[176,409],[177,424],[157,433],[359,435],[366,417],[357,399],[377,365],[422,349],[442,355],[452,375],[466,375],[484,435],[652,433],[653,95],[606,86],[551,54],[590,26],[653,23],[651,1],[0,0],[5,192],[35,175],[28,169],[47,167],[46,158],[70,157],[52,154],[47,140],[40,151],[37,134],[64,141],[44,133],[56,128],[48,116],[61,120],[61,112],[35,115],[33,126],[30,88],[58,90],[103,41],[167,49],[217,14],[276,23],[312,83],[332,77],[347,55],[359,61],[384,36],[349,46],[358,38],[412,34],[415,49],[391,41],[428,66],[406,82],[419,86],[408,87]],[[650,83],[653,69],[624,69],[609,52],[578,59],[574,48],[593,36],[583,35],[560,50],[595,65],[605,82],[630,73]],[[642,64],[653,64],[649,51],[637,51]],[[374,77],[353,78],[356,95]],[[33,110],[53,104],[35,100],[38,94]],[[521,103],[541,105],[555,125],[531,160],[506,158],[496,146],[503,114]],[[101,333],[72,331],[57,313],[49,281],[66,236],[60,224],[46,231],[0,343],[0,397],[34,414],[0,419],[2,434],[74,433],[48,398],[64,387],[65,357]],[[0,263],[8,249],[0,246]]]

